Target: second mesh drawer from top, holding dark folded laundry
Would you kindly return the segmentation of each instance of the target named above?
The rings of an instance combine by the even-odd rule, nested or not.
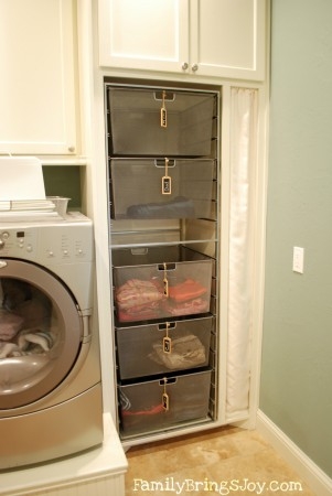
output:
[[[113,218],[211,217],[214,164],[210,159],[110,160]]]

